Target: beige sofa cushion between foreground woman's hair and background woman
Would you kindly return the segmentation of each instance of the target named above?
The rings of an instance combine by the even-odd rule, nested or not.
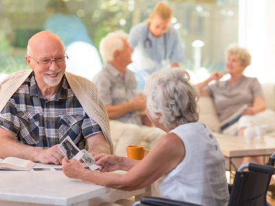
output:
[[[200,97],[199,106],[199,122],[206,124],[212,132],[219,132],[219,117],[214,108],[213,101],[210,97]]]

